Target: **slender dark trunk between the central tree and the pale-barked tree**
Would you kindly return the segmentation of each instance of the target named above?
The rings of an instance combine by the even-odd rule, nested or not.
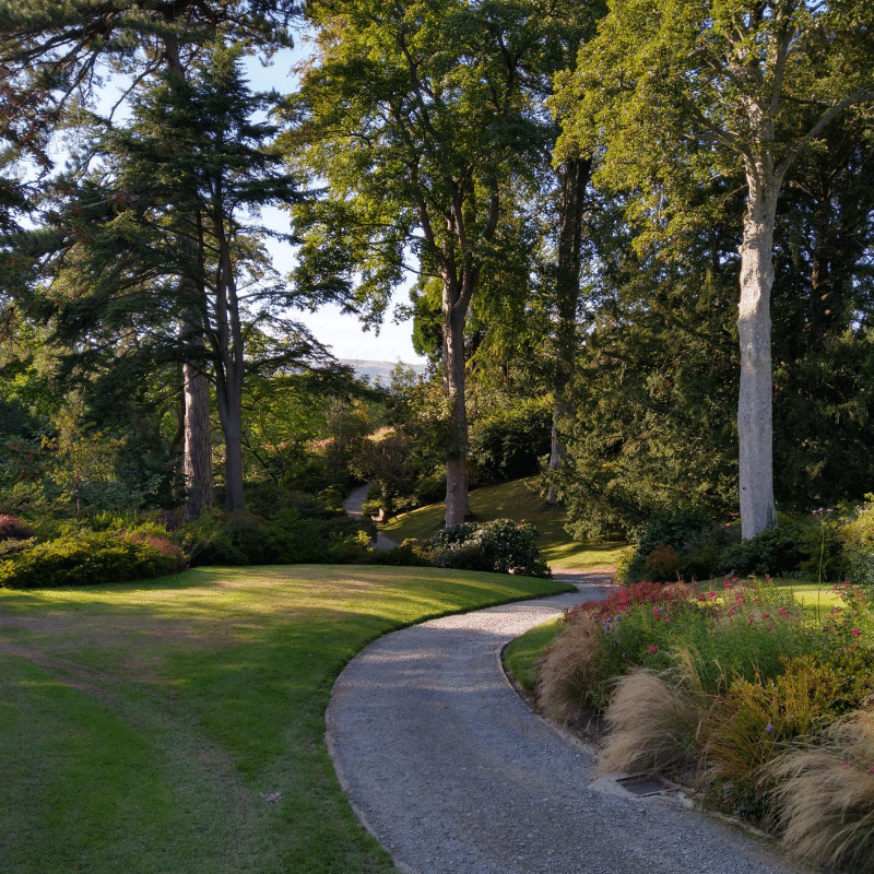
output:
[[[558,201],[558,263],[555,276],[556,327],[555,370],[553,376],[553,427],[550,470],[562,466],[566,449],[562,439],[564,423],[572,418],[575,409],[570,395],[577,357],[577,305],[580,293],[580,246],[582,244],[582,211],[586,188],[591,175],[591,162],[574,158],[559,168]],[[550,485],[546,503],[558,503],[554,484]]]

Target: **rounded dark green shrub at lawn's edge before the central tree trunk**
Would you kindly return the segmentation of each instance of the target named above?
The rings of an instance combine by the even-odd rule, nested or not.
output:
[[[536,529],[511,519],[475,524],[462,522],[434,535],[435,564],[465,570],[548,577],[535,543]]]

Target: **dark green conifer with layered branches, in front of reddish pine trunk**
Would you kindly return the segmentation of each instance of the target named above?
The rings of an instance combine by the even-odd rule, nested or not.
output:
[[[275,128],[252,120],[273,97],[249,92],[238,61],[237,49],[214,47],[188,79],[165,73],[134,102],[130,128],[105,141],[99,178],[66,199],[59,253],[40,271],[59,280],[46,300],[57,335],[80,344],[76,366],[105,364],[109,347],[109,366],[126,350],[143,363],[181,356],[211,375],[228,510],[243,506],[247,369],[326,357],[281,317],[293,300],[249,220],[296,190],[271,145]],[[247,363],[247,338],[268,324],[272,339],[259,333],[261,355]]]

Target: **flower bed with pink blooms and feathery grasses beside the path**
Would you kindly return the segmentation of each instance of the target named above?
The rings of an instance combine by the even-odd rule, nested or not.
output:
[[[788,840],[808,829],[815,861],[870,871],[874,599],[849,582],[834,591],[841,604],[824,615],[805,614],[767,581],[727,579],[704,593],[624,587],[565,615],[542,664],[541,704],[604,709],[606,769],[690,779],[737,813],[780,822]],[[864,755],[852,746],[862,734]],[[852,747],[842,754],[859,798],[852,811],[837,782],[836,739]],[[787,786],[807,787],[811,802]]]

